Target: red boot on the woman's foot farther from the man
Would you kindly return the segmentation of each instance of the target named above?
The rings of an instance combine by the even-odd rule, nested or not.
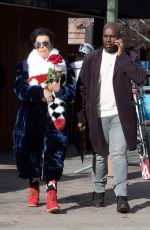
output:
[[[28,199],[28,206],[29,207],[37,207],[38,206],[39,195],[40,195],[39,185],[30,185],[29,199]]]

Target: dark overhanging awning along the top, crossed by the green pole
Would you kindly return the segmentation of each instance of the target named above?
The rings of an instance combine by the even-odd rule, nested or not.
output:
[[[106,17],[107,12],[107,0],[0,0],[0,3],[93,17]],[[150,0],[118,0],[118,18],[150,18]]]

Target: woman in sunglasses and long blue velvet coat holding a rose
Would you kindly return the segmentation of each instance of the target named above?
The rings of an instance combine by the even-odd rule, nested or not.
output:
[[[38,206],[39,181],[44,180],[47,211],[57,213],[57,181],[62,176],[68,145],[67,105],[74,99],[74,76],[54,48],[51,31],[37,28],[30,39],[34,49],[16,68],[14,91],[21,107],[13,151],[18,176],[29,179],[28,205]]]

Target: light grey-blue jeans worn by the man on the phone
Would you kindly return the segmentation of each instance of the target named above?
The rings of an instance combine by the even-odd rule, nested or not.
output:
[[[96,193],[105,192],[107,183],[107,157],[112,158],[113,188],[116,196],[127,196],[127,144],[118,115],[99,118],[106,140],[103,153],[93,157],[92,179]]]

